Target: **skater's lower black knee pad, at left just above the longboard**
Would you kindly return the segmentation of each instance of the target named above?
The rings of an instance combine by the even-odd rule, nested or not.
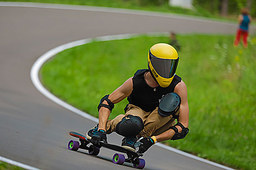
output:
[[[124,117],[115,127],[115,132],[121,136],[130,137],[138,135],[144,124],[141,117],[128,115]]]

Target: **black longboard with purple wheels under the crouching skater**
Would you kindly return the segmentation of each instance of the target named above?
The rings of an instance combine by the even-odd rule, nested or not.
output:
[[[88,150],[88,153],[90,155],[95,155],[95,156],[100,153],[100,148],[95,147],[93,144],[91,144],[88,147],[88,144],[92,142],[86,136],[80,133],[76,133],[75,131],[70,131],[69,135],[79,138],[79,141],[80,141],[80,142],[74,141],[74,140],[69,141],[68,143],[69,150],[77,151],[78,149],[86,149]],[[133,152],[132,150],[123,148],[116,144],[104,143],[104,142],[101,142],[100,144],[104,148],[125,153],[127,155],[127,158],[125,158],[123,154],[118,154],[118,153],[114,154],[112,159],[113,163],[118,165],[123,165],[124,162],[129,162],[133,164],[133,167],[138,169],[143,169],[145,167],[145,160],[139,158],[139,156],[143,156],[143,154]]]

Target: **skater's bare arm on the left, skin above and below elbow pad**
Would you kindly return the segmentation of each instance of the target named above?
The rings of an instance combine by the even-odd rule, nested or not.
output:
[[[111,100],[112,103],[116,104],[120,102],[121,100],[125,99],[129,95],[131,95],[133,85],[132,85],[132,77],[127,79],[123,85],[118,87],[114,92],[111,93],[111,95],[108,96],[108,99]],[[105,100],[103,104],[107,104],[107,101]],[[110,110],[101,107],[99,110],[99,129],[106,131],[106,123],[107,119],[110,115]]]

